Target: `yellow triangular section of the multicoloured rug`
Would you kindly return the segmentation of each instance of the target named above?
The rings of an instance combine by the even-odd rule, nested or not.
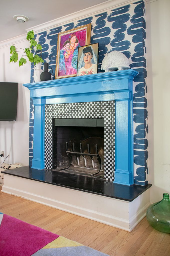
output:
[[[81,243],[77,243],[75,241],[69,240],[65,237],[58,237],[51,243],[48,243],[42,249],[49,249],[49,248],[61,248],[61,247],[74,247],[74,246],[82,246]]]

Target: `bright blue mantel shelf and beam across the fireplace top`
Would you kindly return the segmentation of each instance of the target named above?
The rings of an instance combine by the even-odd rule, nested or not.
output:
[[[45,104],[62,103],[61,98],[63,97],[74,97],[74,102],[78,102],[77,100],[80,96],[89,96],[88,101],[109,100],[109,98],[112,100],[128,100],[131,99],[131,92],[133,91],[131,82],[137,74],[137,71],[127,69],[81,77],[28,83],[23,84],[23,86],[30,90],[30,98],[39,99],[43,97],[42,99],[45,100]],[[98,98],[95,96],[91,97],[91,95],[101,96]],[[78,97],[78,99],[75,97]],[[57,100],[58,98],[60,99]],[[69,102],[69,99],[67,101]]]

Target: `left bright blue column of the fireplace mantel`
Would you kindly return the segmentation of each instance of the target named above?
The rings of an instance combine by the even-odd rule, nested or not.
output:
[[[34,154],[32,167],[44,169],[44,108],[45,99],[35,98],[34,104]]]

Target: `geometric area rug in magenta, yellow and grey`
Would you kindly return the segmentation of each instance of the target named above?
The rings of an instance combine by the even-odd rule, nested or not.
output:
[[[107,256],[0,212],[0,256]]]

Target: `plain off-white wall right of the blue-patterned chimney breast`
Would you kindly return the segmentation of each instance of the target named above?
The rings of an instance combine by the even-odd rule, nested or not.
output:
[[[170,194],[170,1],[147,4],[150,201]]]

